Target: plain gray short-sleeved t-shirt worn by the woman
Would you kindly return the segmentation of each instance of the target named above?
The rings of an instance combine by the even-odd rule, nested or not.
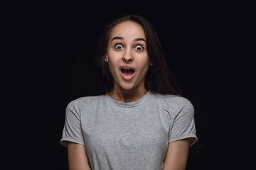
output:
[[[95,170],[155,170],[163,169],[169,142],[188,137],[197,141],[191,102],[149,91],[131,103],[108,95],[71,101],[60,142],[84,145]]]

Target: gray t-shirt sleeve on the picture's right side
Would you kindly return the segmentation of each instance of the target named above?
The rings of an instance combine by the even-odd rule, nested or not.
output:
[[[197,141],[194,108],[186,98],[179,103],[181,108],[172,122],[169,142],[191,138],[190,146],[192,146]]]

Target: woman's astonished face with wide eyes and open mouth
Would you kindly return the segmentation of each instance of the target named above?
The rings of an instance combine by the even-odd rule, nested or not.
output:
[[[124,21],[114,26],[110,33],[107,62],[114,88],[145,88],[144,79],[149,68],[146,38],[139,23]]]

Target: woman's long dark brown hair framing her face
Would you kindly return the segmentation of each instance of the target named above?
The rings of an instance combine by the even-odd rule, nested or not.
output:
[[[148,72],[145,76],[145,87],[152,92],[158,92],[159,94],[178,94],[181,95],[176,89],[178,86],[174,81],[174,77],[171,76],[166,62],[164,60],[164,52],[161,48],[161,43],[154,30],[153,26],[146,21],[145,18],[138,15],[127,15],[122,18],[117,18],[108,24],[103,30],[99,40],[98,46],[98,66],[102,76],[102,93],[106,94],[112,91],[114,86],[114,79],[110,73],[105,57],[107,55],[108,42],[110,40],[110,33],[114,26],[124,21],[133,21],[139,23],[144,29],[146,37],[146,49],[149,56],[149,62],[153,66],[149,66]]]

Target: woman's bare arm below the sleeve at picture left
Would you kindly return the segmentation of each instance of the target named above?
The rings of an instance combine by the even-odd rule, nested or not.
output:
[[[85,146],[68,142],[68,166],[70,170],[91,170],[87,163]]]

